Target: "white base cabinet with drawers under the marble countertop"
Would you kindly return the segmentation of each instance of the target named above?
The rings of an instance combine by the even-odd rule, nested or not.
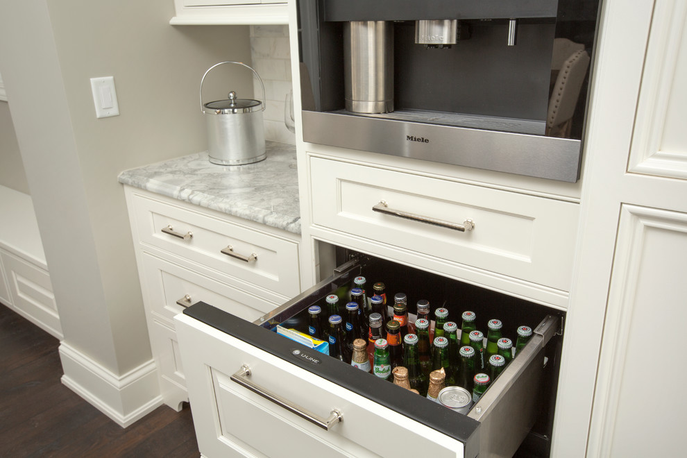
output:
[[[253,321],[300,292],[299,237],[125,186],[164,402],[187,400],[173,316],[192,303]],[[229,248],[231,247],[231,248]]]

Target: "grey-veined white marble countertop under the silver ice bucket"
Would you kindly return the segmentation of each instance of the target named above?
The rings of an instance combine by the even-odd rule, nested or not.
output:
[[[119,183],[300,234],[296,146],[265,142],[267,158],[217,165],[207,151],[119,173]]]

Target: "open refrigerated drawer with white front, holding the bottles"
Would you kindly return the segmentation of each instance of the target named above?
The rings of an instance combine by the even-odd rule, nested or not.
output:
[[[513,455],[536,421],[545,346],[559,329],[559,317],[544,316],[480,401],[459,414],[273,331],[350,282],[357,263],[340,266],[255,323],[205,303],[175,317],[201,453],[278,456],[280,440],[288,446],[294,440],[331,449],[326,456],[400,456],[415,442],[432,456]],[[325,430],[303,411],[320,422],[338,412],[341,421]],[[234,418],[238,412],[241,421]],[[262,425],[279,432],[277,445],[259,439],[254,430]],[[397,444],[389,441],[397,434],[405,446],[392,453],[389,447]]]

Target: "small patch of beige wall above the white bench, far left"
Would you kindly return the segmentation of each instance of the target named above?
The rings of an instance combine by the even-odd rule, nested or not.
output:
[[[26,173],[7,102],[0,101],[0,185],[29,194]]]

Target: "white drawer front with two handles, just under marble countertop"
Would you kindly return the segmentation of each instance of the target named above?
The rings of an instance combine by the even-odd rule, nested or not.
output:
[[[271,289],[285,298],[300,292],[298,244],[260,232],[239,223],[224,221],[134,194],[139,239],[188,260],[208,266],[242,281]],[[183,239],[167,230],[192,237]],[[255,260],[246,262],[222,253],[232,246],[233,253]]]

